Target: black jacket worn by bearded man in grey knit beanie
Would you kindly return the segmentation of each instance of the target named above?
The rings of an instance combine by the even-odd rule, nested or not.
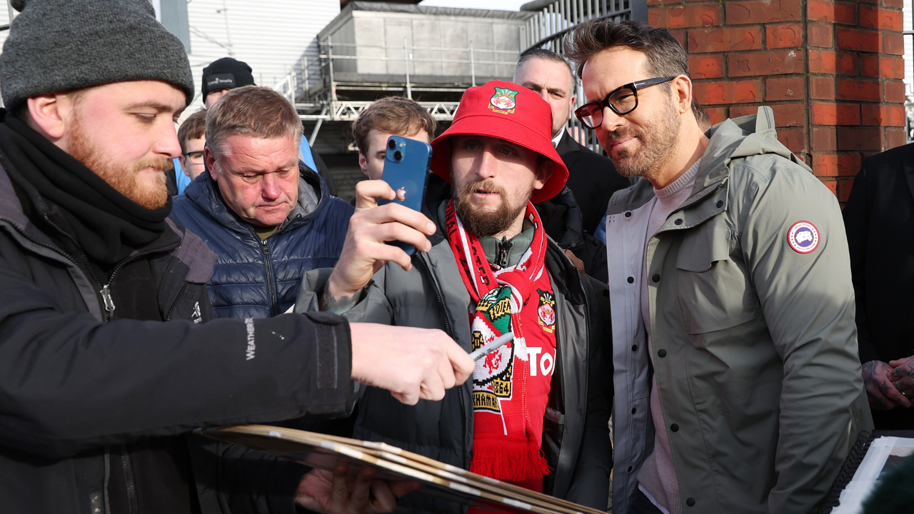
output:
[[[144,305],[158,312],[146,318],[168,321],[108,322],[76,259],[27,218],[2,153],[0,166],[0,511],[140,512],[144,498],[163,491],[143,490],[125,470],[136,471],[135,448],[166,439],[188,444],[191,511],[197,501],[204,512],[225,509],[233,490],[294,511],[300,475],[271,484],[284,494],[235,487],[227,477],[249,477],[197,467],[215,444],[187,433],[347,412],[354,388],[345,320],[319,313],[209,321],[204,284],[215,255],[170,223],[126,260],[146,264],[157,284],[135,294],[154,297]],[[113,273],[112,288],[121,276]],[[125,497],[126,508],[112,501]]]

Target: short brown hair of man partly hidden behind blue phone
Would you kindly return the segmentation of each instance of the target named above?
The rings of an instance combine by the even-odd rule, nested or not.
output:
[[[352,123],[352,137],[359,153],[368,153],[368,133],[377,129],[388,134],[415,134],[421,130],[435,136],[438,122],[419,103],[402,96],[388,96],[373,102]]]

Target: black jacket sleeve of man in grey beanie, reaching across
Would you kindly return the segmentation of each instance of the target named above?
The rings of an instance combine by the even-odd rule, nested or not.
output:
[[[103,324],[65,312],[0,257],[0,444],[20,451],[64,458],[198,426],[346,412],[350,367],[340,316]]]

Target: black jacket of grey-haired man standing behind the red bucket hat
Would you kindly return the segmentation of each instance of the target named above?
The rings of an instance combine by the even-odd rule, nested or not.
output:
[[[631,186],[628,178],[620,177],[612,161],[579,144],[568,131],[562,133],[556,146],[562,162],[569,168],[567,186],[574,193],[583,219],[584,233],[593,235],[606,214],[612,193]]]

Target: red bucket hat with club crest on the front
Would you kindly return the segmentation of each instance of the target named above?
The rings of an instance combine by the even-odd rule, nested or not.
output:
[[[535,189],[530,201],[552,198],[565,187],[569,170],[552,146],[552,109],[537,93],[512,82],[492,80],[463,92],[454,121],[431,142],[431,171],[451,183],[451,136],[487,135],[545,155],[555,166],[552,177]]]

